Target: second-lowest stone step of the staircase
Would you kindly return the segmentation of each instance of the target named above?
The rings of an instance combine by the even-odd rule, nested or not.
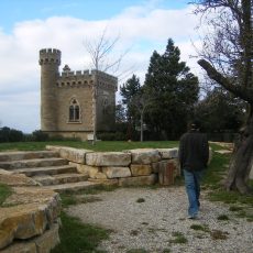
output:
[[[48,186],[84,182],[88,179],[88,175],[78,173],[66,173],[58,175],[37,175],[34,176],[33,179],[41,183],[43,186]]]

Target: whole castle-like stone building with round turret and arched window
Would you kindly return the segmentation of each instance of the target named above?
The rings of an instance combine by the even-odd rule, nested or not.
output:
[[[110,132],[116,122],[118,79],[99,70],[73,72],[61,51],[41,50],[41,130],[51,136],[87,140],[94,130]],[[96,96],[96,99],[95,99]]]

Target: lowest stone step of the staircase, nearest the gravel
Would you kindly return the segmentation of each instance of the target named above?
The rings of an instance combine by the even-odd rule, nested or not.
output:
[[[62,185],[42,186],[42,188],[52,189],[57,193],[65,193],[65,191],[77,191],[81,189],[94,188],[99,185],[101,184],[92,183],[92,182],[78,182],[78,183],[68,183],[68,184],[62,184]]]

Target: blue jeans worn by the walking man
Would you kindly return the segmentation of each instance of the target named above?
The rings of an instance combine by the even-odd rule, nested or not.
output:
[[[202,178],[204,170],[187,170],[184,169],[186,193],[189,200],[188,215],[196,217],[199,210],[199,195],[200,195],[200,180]]]

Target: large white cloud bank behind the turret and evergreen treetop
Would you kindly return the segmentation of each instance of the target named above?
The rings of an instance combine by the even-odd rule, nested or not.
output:
[[[110,20],[86,21],[72,16],[52,16],[16,23],[11,34],[0,30],[0,122],[22,131],[40,128],[40,66],[38,51],[56,47],[62,51],[62,66],[73,70],[87,68],[89,55],[85,40],[94,40],[107,29],[107,36],[120,35],[118,52],[131,48],[122,66],[144,80],[154,50],[163,53],[172,37],[182,51],[183,61],[196,68],[188,58],[194,53],[190,37],[197,18],[190,8],[162,10],[130,8]],[[130,72],[130,76],[132,73]]]

